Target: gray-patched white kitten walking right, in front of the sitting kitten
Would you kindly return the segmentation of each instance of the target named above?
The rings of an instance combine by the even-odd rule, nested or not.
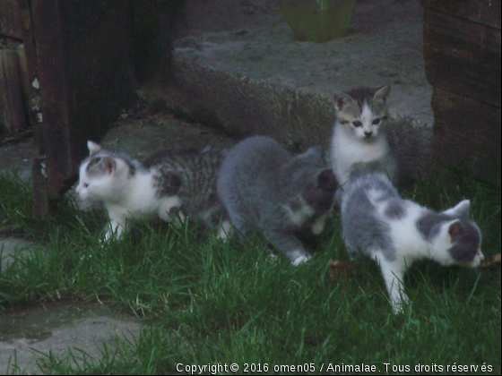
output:
[[[436,212],[402,200],[385,174],[353,174],[342,196],[342,225],[351,252],[379,263],[394,312],[408,302],[402,280],[414,261],[476,268],[484,260],[471,203]]]

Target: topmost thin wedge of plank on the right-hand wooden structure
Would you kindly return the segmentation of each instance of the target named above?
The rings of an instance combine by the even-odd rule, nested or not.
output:
[[[441,13],[500,29],[501,0],[421,0],[421,4]]]

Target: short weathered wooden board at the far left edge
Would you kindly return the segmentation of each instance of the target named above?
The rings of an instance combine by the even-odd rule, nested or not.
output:
[[[17,52],[0,50],[0,132],[21,132],[28,126]]]

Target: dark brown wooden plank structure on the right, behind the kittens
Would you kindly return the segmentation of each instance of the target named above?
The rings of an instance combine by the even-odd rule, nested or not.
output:
[[[434,86],[434,155],[447,167],[500,171],[500,0],[421,0]]]

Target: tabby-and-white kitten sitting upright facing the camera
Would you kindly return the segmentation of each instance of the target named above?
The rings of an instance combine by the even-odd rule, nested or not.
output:
[[[340,184],[347,183],[351,171],[361,164],[385,172],[394,183],[397,180],[397,163],[384,132],[390,92],[390,85],[386,85],[334,94],[331,162]]]

